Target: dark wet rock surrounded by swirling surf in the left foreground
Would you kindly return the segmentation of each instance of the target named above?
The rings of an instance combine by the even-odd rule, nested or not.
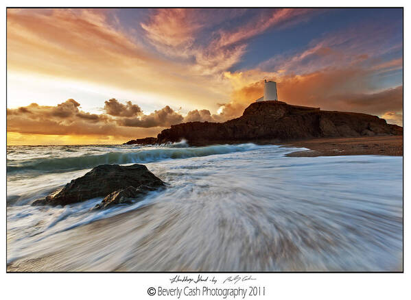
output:
[[[138,192],[133,190],[133,194],[130,186],[135,187]],[[134,197],[133,195],[139,197],[145,192],[163,186],[165,186],[165,183],[148,171],[148,168],[143,164],[133,164],[132,166],[102,164],[93,168],[86,175],[71,180],[64,188],[56,190],[45,197],[45,199],[34,201],[32,205],[67,205],[96,197],[106,197],[112,192],[125,189],[128,189],[128,191],[123,192],[123,198],[127,195],[130,195],[128,198]],[[116,203],[116,201],[120,203],[120,199],[117,197],[113,201],[108,201],[108,203]]]

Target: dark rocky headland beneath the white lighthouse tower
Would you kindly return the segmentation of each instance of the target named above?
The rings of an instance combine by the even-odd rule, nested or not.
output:
[[[239,118],[224,123],[189,122],[172,125],[157,142],[191,145],[259,140],[289,141],[323,137],[402,135],[402,127],[370,114],[323,111],[281,101],[252,103]]]

